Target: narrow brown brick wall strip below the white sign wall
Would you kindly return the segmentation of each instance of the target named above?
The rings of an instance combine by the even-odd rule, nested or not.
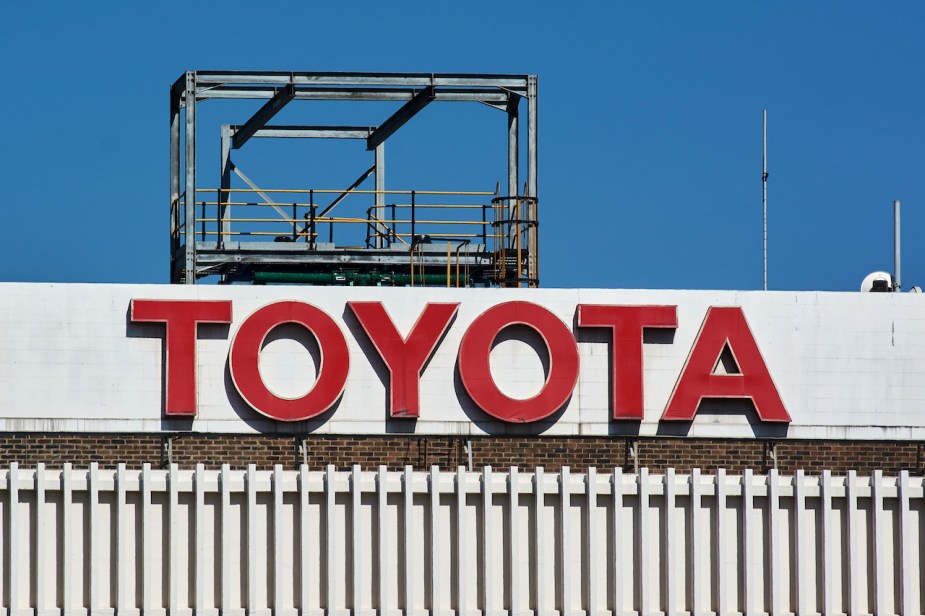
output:
[[[181,468],[198,463],[208,468],[230,464],[243,468],[256,464],[269,468],[282,464],[294,468],[301,463],[299,440],[292,436],[179,435],[169,443],[166,436],[137,434],[0,434],[0,467],[10,462],[21,466],[60,468],[70,462],[87,466],[97,462],[112,467],[124,462],[138,467],[148,462],[159,467],[170,459]],[[353,464],[372,469],[384,464],[391,469],[432,465],[454,469],[468,463],[466,439],[419,436],[308,436],[305,458],[311,468],[334,464],[347,469]],[[764,472],[774,466],[766,441],[746,439],[680,439],[625,437],[474,437],[473,467],[496,469],[517,466],[527,470],[543,466],[556,471],[561,466],[581,470],[588,466],[626,471],[648,467],[653,472],[673,467],[679,472],[697,467],[705,472],[725,468],[741,472],[751,468]],[[895,474],[907,469],[921,472],[925,466],[925,445],[894,441],[778,441],[774,447],[777,468],[782,473],[804,469],[818,473],[857,470],[869,474],[881,469]]]

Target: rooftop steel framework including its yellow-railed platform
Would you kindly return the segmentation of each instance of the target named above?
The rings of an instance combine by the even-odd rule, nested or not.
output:
[[[221,185],[203,188],[196,181],[196,108],[210,99],[266,102],[251,117],[221,125]],[[526,100],[525,174],[519,168],[522,100]],[[269,124],[285,106],[302,101],[404,104],[372,127]],[[481,103],[507,114],[506,193],[386,190],[388,138],[430,103],[447,101]],[[233,151],[253,138],[365,140],[373,164],[346,190],[261,188],[231,159]],[[248,188],[232,188],[232,174]],[[358,188],[371,176],[374,190]],[[286,200],[278,200],[277,193],[285,194]],[[362,195],[370,205],[365,215],[332,213],[344,200],[355,204]],[[390,197],[406,202],[387,203]],[[300,202],[293,203],[296,198]],[[452,199],[449,205],[431,203]],[[461,204],[460,199],[478,202]],[[535,75],[188,71],[170,89],[173,283],[193,284],[218,275],[223,282],[414,285],[442,283],[445,278],[447,285],[455,286],[478,282],[537,286],[537,202]],[[258,206],[262,208],[258,211],[274,210],[274,218],[238,215]],[[435,216],[429,214],[447,209],[469,219],[432,220]],[[253,230],[253,225],[264,223],[273,223],[276,230]],[[349,223],[365,225],[365,245],[334,241],[335,227]],[[289,230],[280,233],[281,224]],[[323,238],[325,229],[327,238]],[[261,237],[270,241],[259,241]]]

